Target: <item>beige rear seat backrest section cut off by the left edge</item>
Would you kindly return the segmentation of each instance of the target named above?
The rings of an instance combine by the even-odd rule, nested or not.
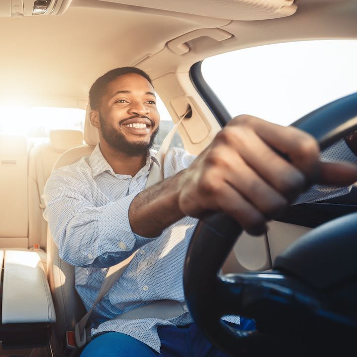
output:
[[[28,247],[28,150],[25,136],[0,135],[1,247]]]

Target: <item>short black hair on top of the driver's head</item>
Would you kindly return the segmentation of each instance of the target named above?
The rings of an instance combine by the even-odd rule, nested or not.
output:
[[[93,84],[91,89],[89,90],[89,104],[91,109],[97,110],[102,96],[105,94],[107,90],[107,85],[115,80],[116,78],[129,73],[135,73],[143,76],[145,79],[149,81],[149,83],[153,86],[151,78],[149,75],[143,70],[136,67],[119,67],[110,70],[106,74],[103,74],[99,77]],[[153,86],[154,87],[154,86]]]

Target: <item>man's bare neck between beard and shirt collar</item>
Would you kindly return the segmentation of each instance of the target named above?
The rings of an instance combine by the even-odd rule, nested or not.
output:
[[[116,174],[130,175],[134,177],[146,164],[146,155],[128,156],[117,151],[106,142],[100,143],[100,150]]]

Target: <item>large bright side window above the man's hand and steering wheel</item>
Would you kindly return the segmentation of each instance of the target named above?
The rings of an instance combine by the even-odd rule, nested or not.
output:
[[[266,45],[208,58],[202,74],[232,117],[289,125],[357,91],[357,41]]]

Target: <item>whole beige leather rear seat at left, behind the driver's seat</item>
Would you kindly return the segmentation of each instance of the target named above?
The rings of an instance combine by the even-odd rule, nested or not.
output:
[[[49,143],[33,147],[25,136],[0,135],[0,193],[6,202],[0,208],[2,250],[36,247],[46,267],[47,223],[40,196],[61,153],[82,143],[79,130],[52,130]]]

